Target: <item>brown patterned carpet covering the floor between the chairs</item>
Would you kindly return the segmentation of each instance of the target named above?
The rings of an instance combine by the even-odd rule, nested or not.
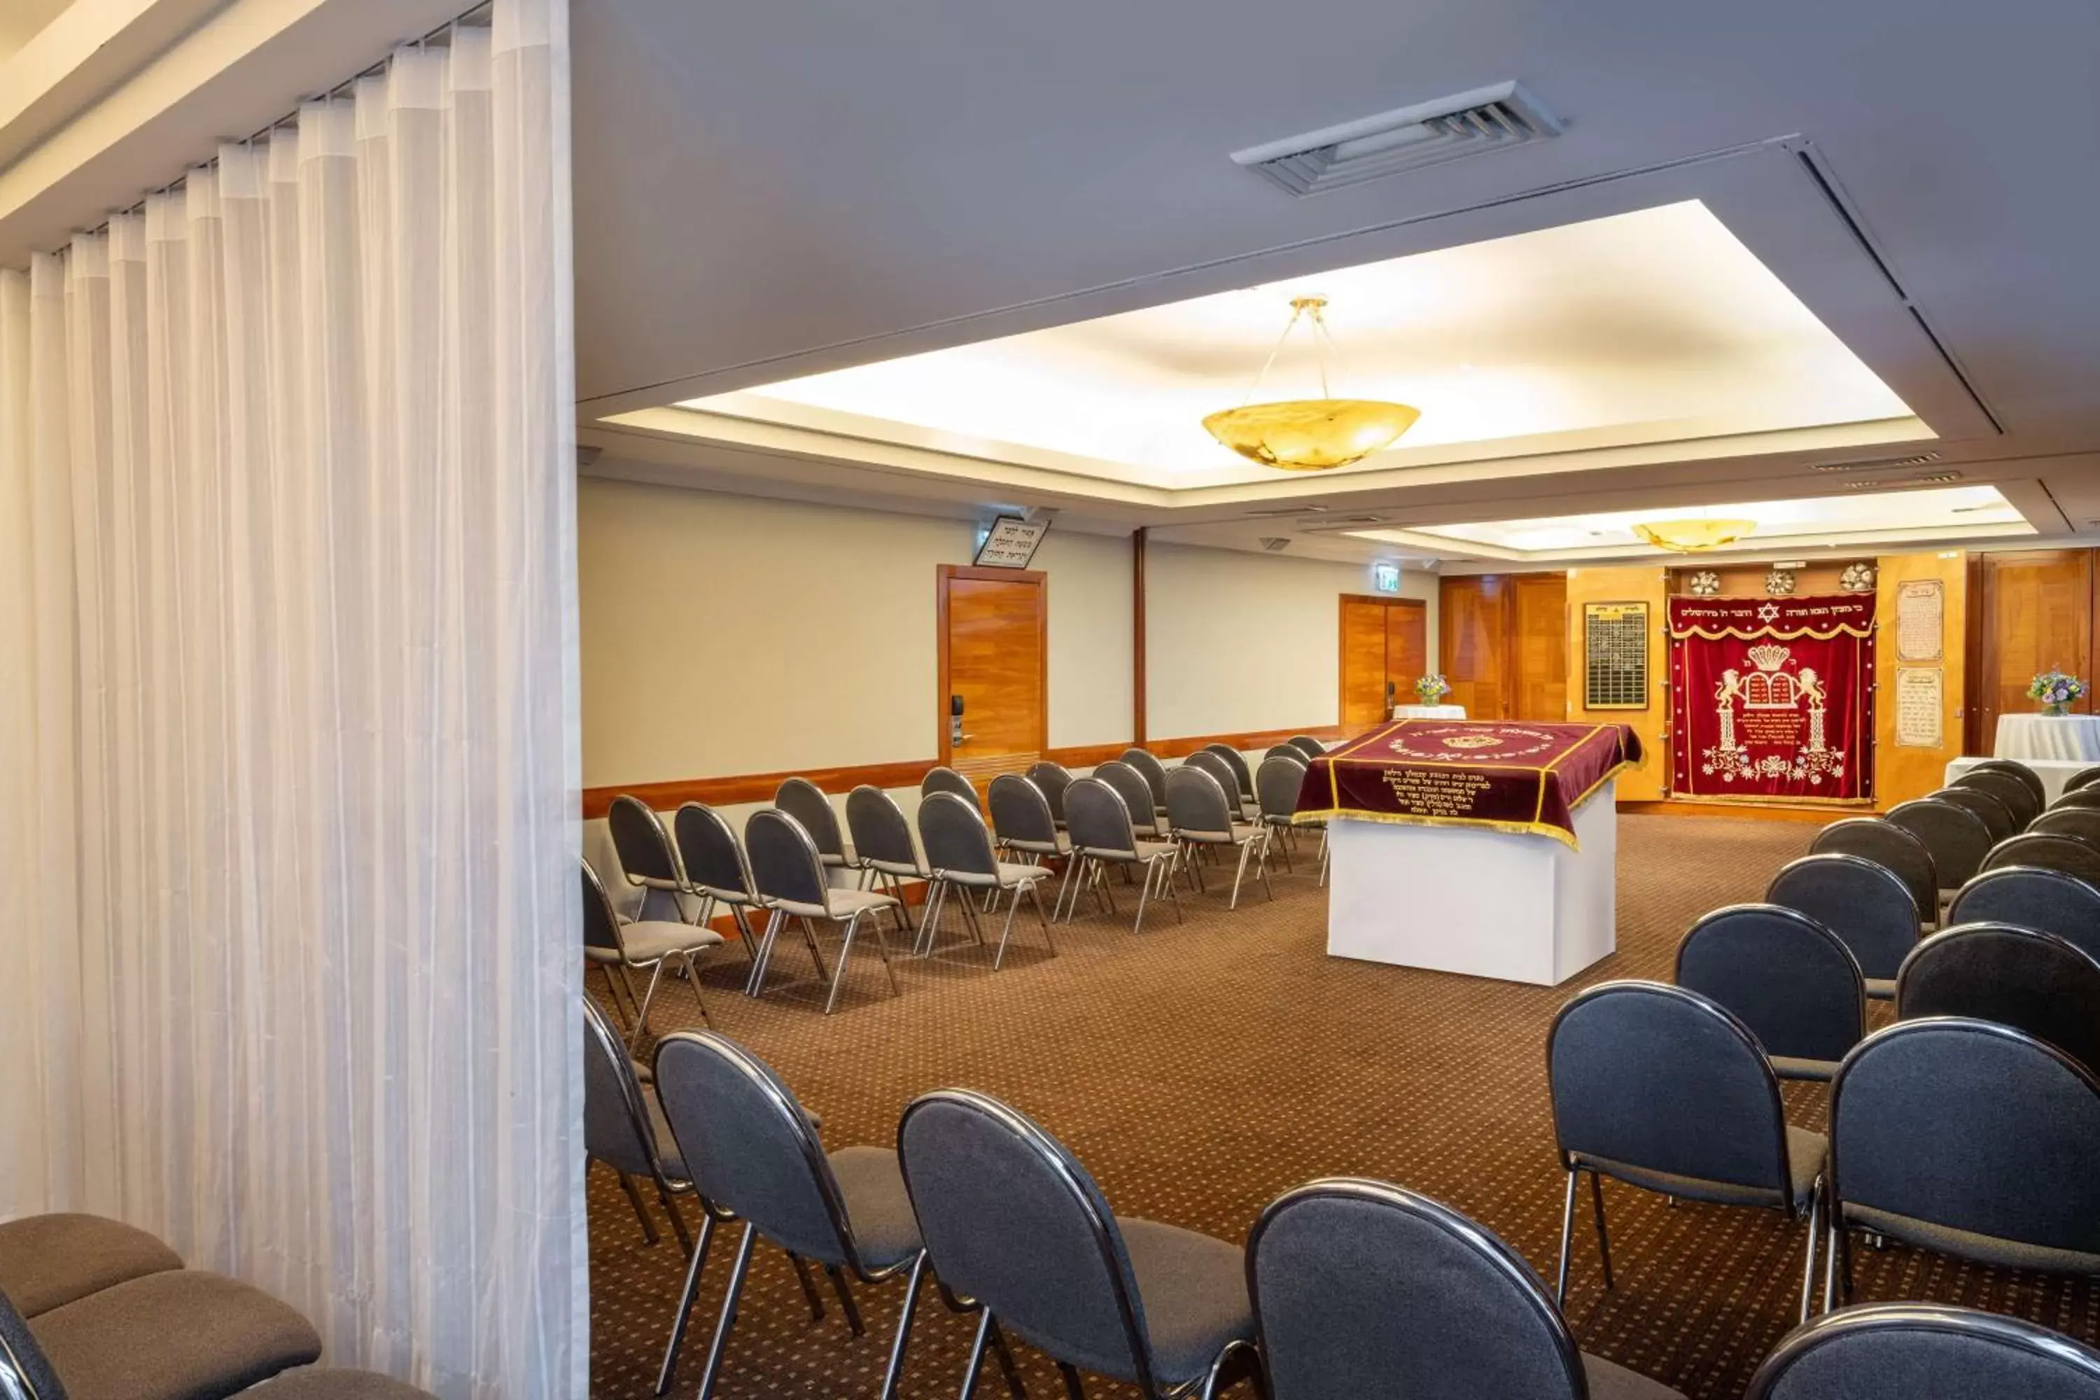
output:
[[[733,989],[731,951],[708,976],[716,1026],[764,1056],[823,1115],[830,1146],[890,1144],[897,1112],[924,1089],[1004,1098],[1063,1138],[1117,1211],[1243,1240],[1279,1192],[1317,1175],[1369,1175],[1474,1215],[1546,1276],[1560,1240],[1544,1045],[1554,1010],[1581,984],[1667,978],[1676,940],[1712,907],[1756,898],[1806,848],[1810,827],[1730,819],[1623,816],[1619,951],[1558,989],[1485,982],[1325,957],[1325,892],[1300,863],[1237,913],[1184,896],[1130,934],[1124,917],[1058,926],[1060,957],[1018,924],[1008,966],[974,947],[930,963],[899,959],[901,997],[874,961],[857,966],[832,1018],[815,999]],[[953,940],[949,942],[953,949]],[[777,970],[806,976],[781,945]],[[806,989],[804,989],[806,995]],[[676,987],[657,1028],[695,1022]],[[1823,1089],[1789,1087],[1796,1121],[1821,1127]],[[1741,1396],[1791,1327],[1802,1228],[1777,1215],[1682,1205],[1606,1186],[1617,1289],[1602,1287],[1579,1219],[1569,1322],[1590,1352],[1695,1400]],[[653,1203],[651,1203],[651,1209]],[[708,1264],[672,1394],[691,1396],[733,1247]],[[2100,1289],[1953,1264],[1903,1249],[1858,1251],[1863,1299],[1942,1299],[2012,1312],[2100,1339]],[[643,1245],[605,1169],[590,1190],[592,1394],[647,1396],[680,1257],[668,1232]],[[874,1396],[903,1289],[859,1289],[865,1337],[836,1301],[811,1322],[785,1257],[760,1249],[729,1343],[720,1396]],[[928,1291],[905,1369],[907,1396],[953,1396],[970,1341]],[[1056,1371],[1016,1348],[1029,1392]],[[995,1373],[981,1394],[1004,1396]],[[1088,1381],[1092,1396],[1130,1394]]]

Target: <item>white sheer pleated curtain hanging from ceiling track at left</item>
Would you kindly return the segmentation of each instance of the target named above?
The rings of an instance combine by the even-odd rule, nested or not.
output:
[[[567,19],[0,273],[0,1213],[582,1396]]]

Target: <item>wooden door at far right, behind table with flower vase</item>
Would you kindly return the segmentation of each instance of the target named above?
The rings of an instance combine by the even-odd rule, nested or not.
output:
[[[1978,754],[1989,754],[2001,714],[2035,707],[2026,684],[2048,670],[2092,676],[2092,550],[2008,550],[1984,554],[1980,665],[1974,678]],[[2090,712],[2092,695],[2073,709]]]

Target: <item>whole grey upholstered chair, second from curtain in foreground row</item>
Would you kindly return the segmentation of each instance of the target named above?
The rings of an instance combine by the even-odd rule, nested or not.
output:
[[[664,1037],[655,1054],[655,1085],[664,1100],[664,1117],[691,1167],[695,1190],[724,1217],[735,1215],[746,1222],[722,1295],[722,1312],[708,1345],[699,1400],[714,1394],[729,1331],[737,1320],[737,1299],[752,1268],[752,1249],[760,1236],[794,1259],[815,1259],[823,1266],[855,1337],[865,1329],[846,1282],[848,1274],[865,1285],[909,1276],[882,1381],[882,1398],[890,1400],[903,1371],[911,1312],[924,1274],[924,1249],[897,1169],[897,1152],[874,1146],[825,1152],[811,1117],[779,1075],[752,1052],[712,1031],[676,1031]],[[664,1366],[657,1373],[659,1396],[674,1379],[714,1222],[714,1213],[701,1219],[699,1245],[685,1270]]]

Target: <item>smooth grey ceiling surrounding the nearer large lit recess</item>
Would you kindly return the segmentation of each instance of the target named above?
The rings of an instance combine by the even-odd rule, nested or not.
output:
[[[1539,449],[1525,434],[1506,451],[1512,439],[1480,449],[1493,426],[1472,426],[1457,430],[1474,439],[1464,462],[1163,493],[1088,481],[1065,470],[1073,462],[991,462],[972,455],[976,441],[848,451],[798,422],[666,407],[1699,199],[1917,413],[1924,430],[1900,441],[1936,449],[1934,470],[1999,485],[2043,537],[2100,521],[2100,6],[2085,0],[1930,15],[1907,0],[573,4],[578,351],[594,470],[918,510],[1063,506],[1079,525],[1250,548],[1289,533],[1308,552],[1346,546],[1277,521],[1302,491],[1407,529],[1835,493],[1806,468],[1840,447],[1892,455],[1886,432],[1840,447],[1758,432],[1640,449]],[[1312,199],[1228,160],[1504,78],[1567,132]],[[1596,267],[1619,290],[1665,275],[1604,252]],[[1590,288],[1552,292],[1569,306]],[[1556,321],[1544,302],[1522,313],[1533,327]],[[1646,313],[1659,319],[1651,344],[1676,330],[1667,298]],[[1336,332],[1350,355],[1342,304]],[[1237,336],[1182,351],[1245,357]],[[1451,346],[1438,365],[1432,348],[1409,374],[1434,388],[1464,374],[1455,365],[1478,372],[1468,357]],[[1670,386],[1628,401],[1636,393]],[[867,401],[848,411],[909,416]],[[607,413],[640,420],[592,422]],[[1430,422],[1415,441],[1434,447]],[[956,428],[981,439],[985,426]],[[1063,458],[1098,451],[1069,424],[1056,434],[1069,437],[1021,432]],[[1898,472],[1886,485],[1911,483]]]

